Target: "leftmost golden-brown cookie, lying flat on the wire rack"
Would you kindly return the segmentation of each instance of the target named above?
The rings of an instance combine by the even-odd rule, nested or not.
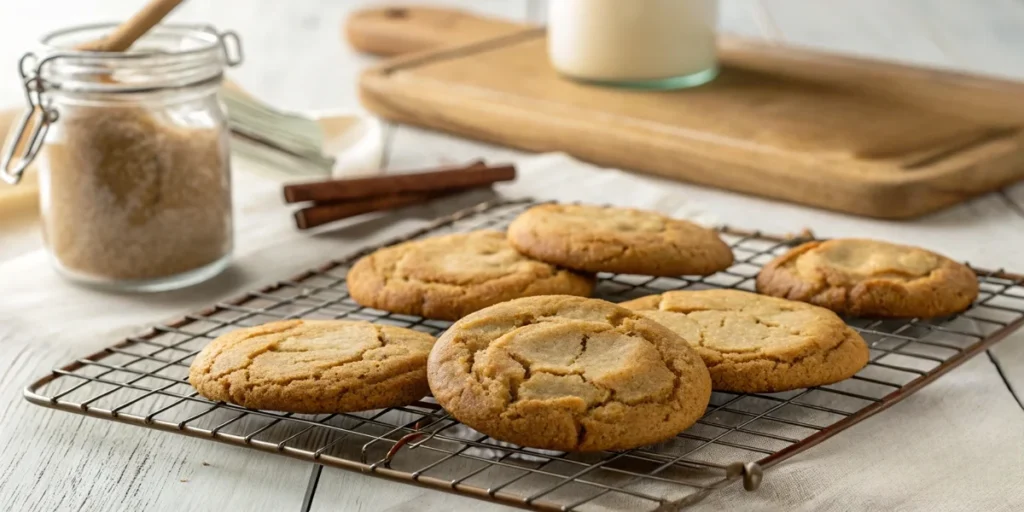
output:
[[[188,382],[249,409],[348,413],[407,406],[427,394],[426,333],[368,322],[282,321],[210,342]]]

